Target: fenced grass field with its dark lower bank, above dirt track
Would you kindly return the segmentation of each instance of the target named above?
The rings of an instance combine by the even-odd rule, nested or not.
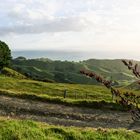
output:
[[[66,98],[63,97],[65,89],[67,90]],[[112,102],[108,89],[95,85],[45,83],[1,75],[0,95],[69,106],[124,110],[121,105]]]

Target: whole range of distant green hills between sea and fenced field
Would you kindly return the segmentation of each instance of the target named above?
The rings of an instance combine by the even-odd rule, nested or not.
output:
[[[132,72],[119,59],[89,59],[80,62],[69,62],[53,61],[47,58],[26,59],[19,57],[12,61],[12,68],[32,79],[49,82],[97,84],[94,79],[81,75],[79,73],[81,69],[94,71],[107,79],[116,80],[120,84],[128,85],[136,80]]]

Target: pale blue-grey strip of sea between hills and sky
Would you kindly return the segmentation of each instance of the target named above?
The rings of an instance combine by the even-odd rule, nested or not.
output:
[[[61,61],[83,61],[87,59],[130,59],[140,61],[138,56],[131,57],[128,53],[114,53],[109,51],[94,51],[94,52],[84,52],[84,51],[60,51],[60,50],[14,50],[11,52],[13,58],[23,56],[27,59],[35,58],[48,58],[51,60],[61,60]],[[124,56],[124,57],[123,57]]]

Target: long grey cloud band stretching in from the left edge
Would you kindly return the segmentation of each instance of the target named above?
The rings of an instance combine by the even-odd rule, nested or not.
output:
[[[46,20],[40,23],[21,25],[14,25],[8,27],[0,27],[0,35],[7,35],[9,33],[14,34],[37,34],[44,32],[67,32],[75,31],[79,32],[86,28],[84,19],[78,19],[78,17],[70,18],[56,18],[53,20]]]

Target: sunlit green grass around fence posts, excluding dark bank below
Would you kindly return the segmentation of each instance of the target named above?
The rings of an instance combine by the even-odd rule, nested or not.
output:
[[[15,92],[15,94],[34,94],[37,96],[49,96],[63,98],[64,90],[67,90],[67,99],[111,101],[111,93],[103,86],[45,83],[26,79],[15,79],[0,76],[0,89]]]

